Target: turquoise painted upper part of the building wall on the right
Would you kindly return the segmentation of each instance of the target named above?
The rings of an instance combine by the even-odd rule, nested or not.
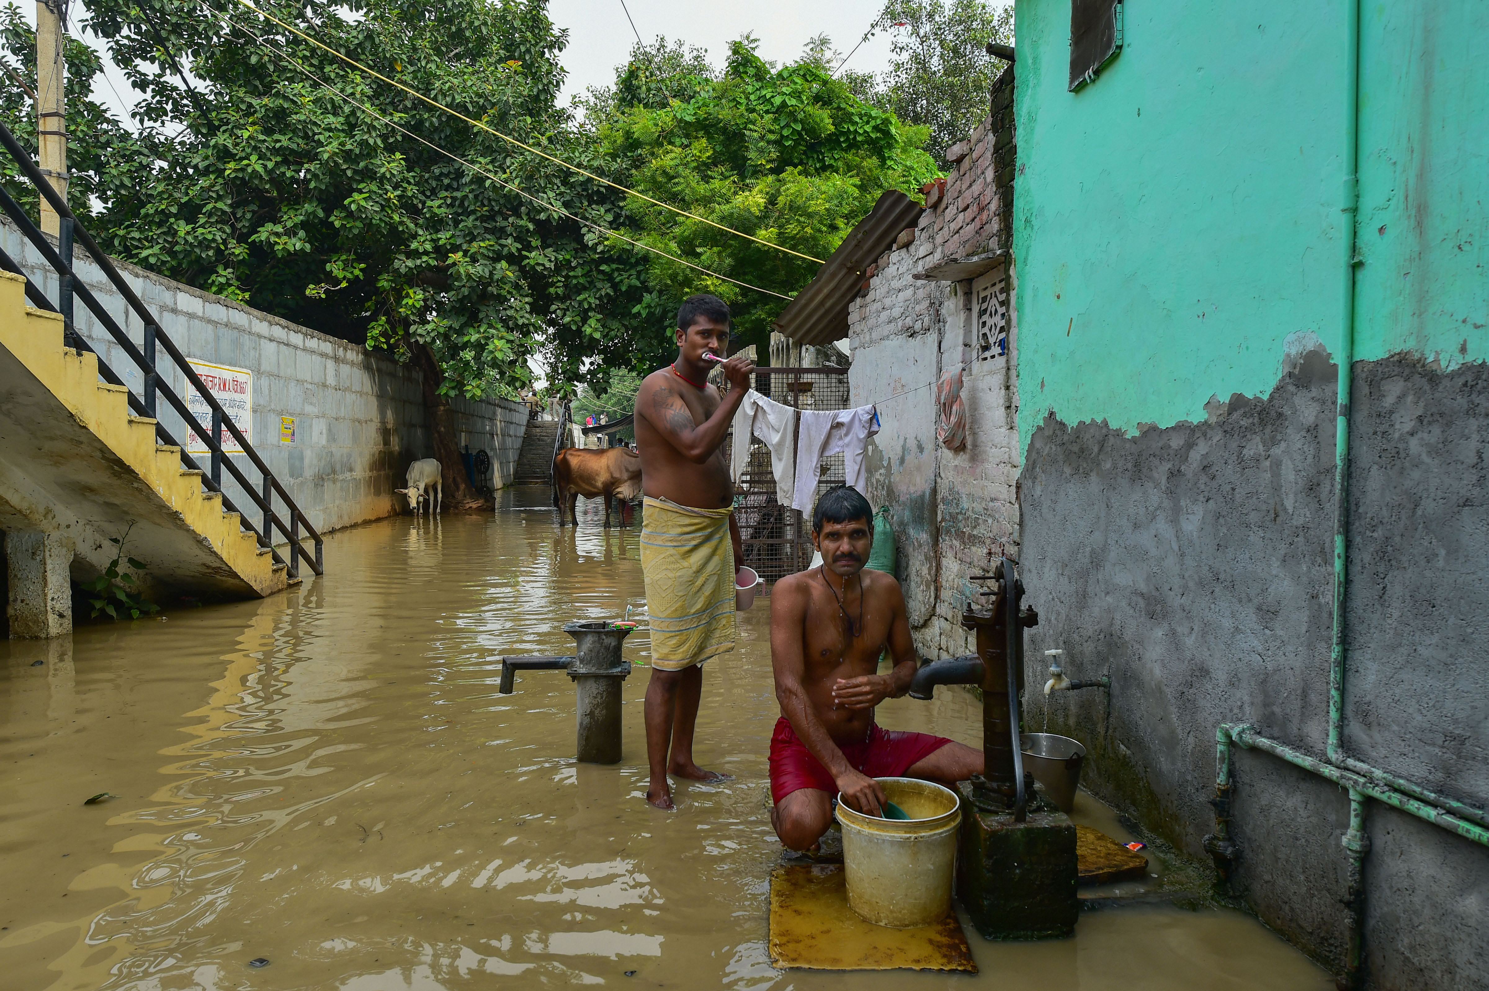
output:
[[[1343,4],[1127,3],[1075,94],[1069,16],[1017,3],[1024,446],[1051,411],[1200,421],[1266,396],[1292,335],[1340,335]],[[1362,6],[1356,359],[1489,356],[1486,39],[1486,3]]]

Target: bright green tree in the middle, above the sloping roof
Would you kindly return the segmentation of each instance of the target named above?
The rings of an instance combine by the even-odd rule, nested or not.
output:
[[[587,104],[603,153],[628,183],[706,220],[825,259],[886,189],[919,196],[938,173],[922,150],[928,131],[907,126],[834,79],[822,51],[776,68],[749,37],[722,73],[666,40],[637,45],[612,89]],[[630,196],[628,234],[713,272],[789,296],[817,263]],[[669,260],[651,278],[675,307],[694,292],[725,299],[737,342],[762,345],[788,299]],[[672,345],[660,326],[648,362]],[[652,365],[655,368],[655,365]]]

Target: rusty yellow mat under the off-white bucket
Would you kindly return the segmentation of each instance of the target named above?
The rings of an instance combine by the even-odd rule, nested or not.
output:
[[[865,923],[847,906],[840,865],[776,867],[770,878],[770,963],[809,970],[977,973],[954,912],[919,929]]]

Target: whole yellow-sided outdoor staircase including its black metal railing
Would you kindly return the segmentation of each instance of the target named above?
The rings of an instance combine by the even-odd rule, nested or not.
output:
[[[299,577],[302,562],[322,574],[320,534],[3,124],[0,150],[58,222],[55,238],[42,234],[0,186],[0,213],[58,280],[54,301],[0,250],[0,530],[9,635],[68,632],[70,586],[97,576],[121,549],[144,562],[135,591],[155,598],[272,595]],[[125,312],[112,311],[77,278],[74,246],[91,256]],[[77,304],[134,365],[131,375],[143,376],[140,394],[77,330]],[[141,342],[125,330],[130,318],[143,329]],[[177,376],[185,379],[180,391]],[[204,420],[188,399],[205,403]],[[174,414],[176,430],[203,439],[210,451],[204,464],[182,451],[158,411]],[[225,436],[241,461],[228,457]],[[240,515],[223,493],[223,475],[246,494],[253,518]],[[121,548],[125,531],[128,545]],[[283,557],[275,531],[286,542],[278,545]]]

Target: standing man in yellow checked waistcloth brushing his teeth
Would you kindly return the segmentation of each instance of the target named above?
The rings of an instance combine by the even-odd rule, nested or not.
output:
[[[642,574],[651,625],[652,676],[646,686],[646,801],[672,809],[669,774],[719,781],[692,759],[703,692],[700,665],[734,649],[734,573],[740,531],[724,440],[755,363],[724,363],[730,393],[709,385],[730,348],[730,308],[718,296],[688,296],[677,310],[677,360],[652,372],[636,393],[636,446],[642,457]],[[669,745],[672,750],[669,759]]]

